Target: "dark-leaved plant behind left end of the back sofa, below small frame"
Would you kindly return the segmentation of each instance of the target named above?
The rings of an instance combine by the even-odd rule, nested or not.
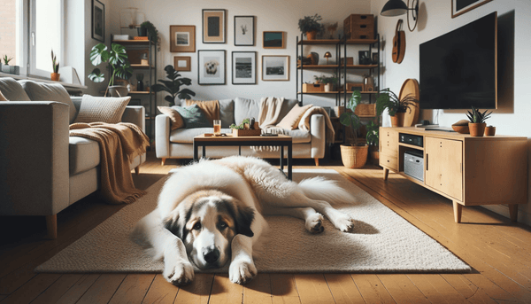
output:
[[[168,78],[169,81],[159,79],[158,82],[162,82],[162,84],[153,84],[151,90],[154,92],[165,91],[169,93],[170,95],[164,97],[164,99],[170,104],[170,106],[175,105],[175,97],[190,99],[190,96],[196,96],[196,93],[192,90],[181,90],[181,86],[192,84],[192,81],[189,78],[181,77],[181,74],[175,71],[175,68],[172,65],[165,66],[164,70],[167,74],[166,78]]]

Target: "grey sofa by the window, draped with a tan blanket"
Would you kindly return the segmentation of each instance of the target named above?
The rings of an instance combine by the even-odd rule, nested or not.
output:
[[[99,145],[69,136],[82,97],[58,83],[0,78],[0,215],[44,215],[57,237],[57,214],[99,189]],[[144,108],[127,105],[121,121],[145,130]],[[146,154],[131,168],[138,174]]]

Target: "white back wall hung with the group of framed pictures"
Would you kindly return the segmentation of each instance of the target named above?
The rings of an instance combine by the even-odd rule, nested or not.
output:
[[[158,78],[165,78],[164,66],[173,65],[173,56],[190,56],[191,72],[181,73],[184,77],[192,79],[191,90],[196,92],[196,99],[209,100],[220,98],[250,97],[259,98],[266,96],[296,98],[296,36],[300,36],[298,19],[313,15],[318,12],[323,17],[324,23],[338,22],[342,27],[342,20],[350,13],[369,13],[370,0],[338,0],[327,2],[320,0],[272,0],[272,1],[244,1],[244,0],[198,0],[191,2],[164,1],[164,0],[114,0],[112,1],[111,31],[120,34],[119,17],[123,7],[136,7],[144,12],[146,19],[157,27],[162,39],[161,51],[158,53]],[[226,9],[227,10],[227,43],[212,44],[203,43],[202,39],[202,9]],[[256,16],[256,45],[254,47],[236,47],[234,45],[234,17],[235,15]],[[205,86],[197,84],[197,52],[194,53],[171,53],[169,51],[169,27],[171,25],[195,25],[196,26],[196,50],[226,50],[227,51],[227,84]],[[286,48],[281,50],[266,50],[262,48],[263,31],[286,32]],[[123,34],[129,34],[125,30]],[[309,51],[317,51],[323,58],[325,51],[331,51],[335,56],[333,47],[308,48]],[[232,85],[232,51],[257,51],[258,52],[258,84],[257,85]],[[290,75],[289,82],[263,82],[261,80],[261,57],[262,55],[289,55]],[[331,58],[331,62],[335,58]],[[322,63],[322,61],[321,61]],[[312,73],[304,74],[305,81],[313,81]],[[145,78],[144,78],[145,82]],[[304,104],[335,105],[335,99],[326,97],[304,97]],[[158,94],[158,105],[166,105],[163,94]]]

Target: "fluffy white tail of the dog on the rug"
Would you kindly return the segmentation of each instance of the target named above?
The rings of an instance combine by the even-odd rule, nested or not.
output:
[[[328,203],[352,203],[354,197],[342,189],[335,181],[322,176],[307,178],[298,183],[301,190],[310,199],[326,200]]]

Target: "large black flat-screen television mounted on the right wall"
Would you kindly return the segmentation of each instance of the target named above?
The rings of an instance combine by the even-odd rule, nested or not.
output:
[[[419,45],[422,109],[497,107],[497,13]]]

